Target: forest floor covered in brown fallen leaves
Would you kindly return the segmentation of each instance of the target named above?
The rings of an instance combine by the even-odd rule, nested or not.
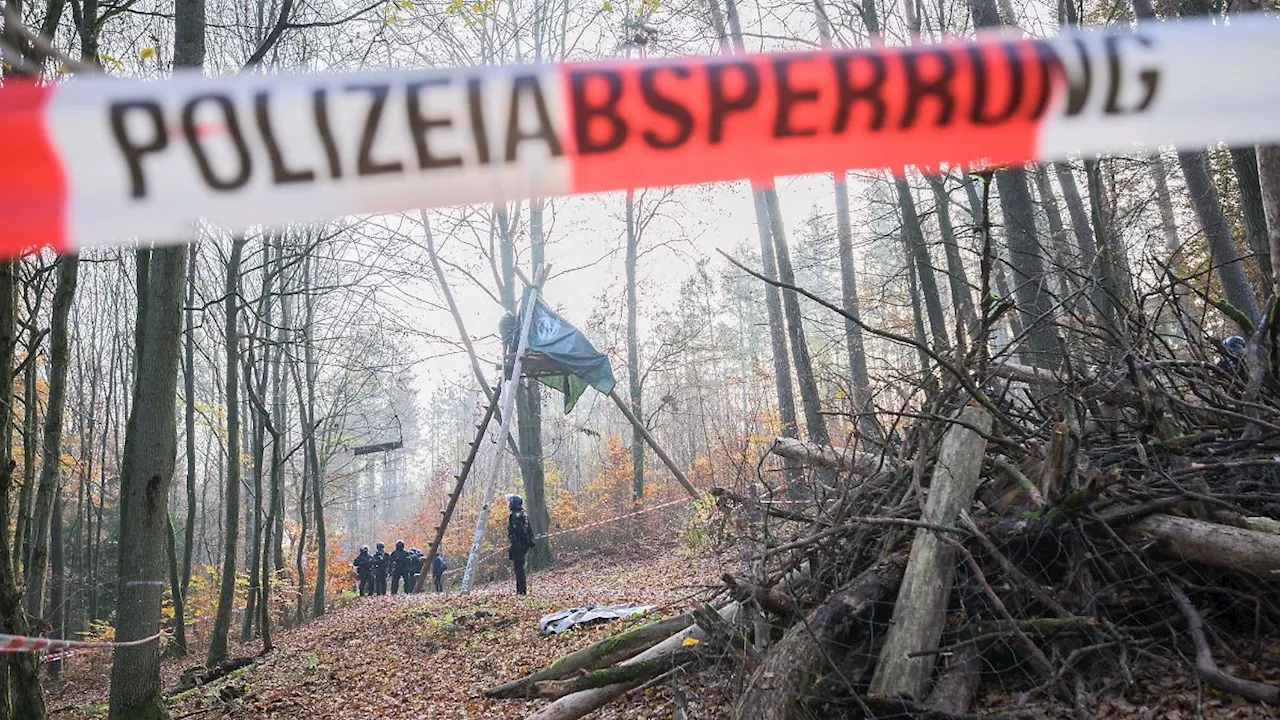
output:
[[[470,597],[447,592],[362,598],[301,628],[279,630],[270,653],[227,678],[172,696],[170,712],[174,719],[524,717],[545,701],[489,700],[484,688],[643,621],[580,626],[545,638],[538,633],[539,618],[588,602],[634,601],[658,605],[664,612],[682,611],[717,587],[721,573],[733,564],[727,556],[650,546],[635,557],[563,556],[556,569],[530,579],[527,597],[513,596],[508,579],[481,584]],[[259,650],[256,644],[241,646],[233,653],[252,656]],[[1248,655],[1262,660],[1224,665],[1243,664],[1247,667],[1230,669],[1280,680],[1280,648],[1261,653],[1254,648]],[[173,687],[182,670],[195,662],[191,657],[166,660],[165,685]],[[52,717],[105,717],[109,675],[110,655],[105,651],[68,661],[63,676],[47,684]],[[1116,683],[1089,710],[1108,719],[1274,716],[1265,706],[1199,687],[1188,665],[1135,667],[1134,679],[1128,687]],[[1020,688],[1002,688],[1002,680],[1009,678],[988,676],[975,707],[983,712],[1019,710],[1015,698]],[[677,680],[687,698],[687,717],[699,720],[730,716],[745,682],[742,671],[727,664]],[[635,692],[591,717],[672,717],[675,707],[673,684],[667,682]],[[1041,708],[1044,717],[1070,714],[1064,706]]]

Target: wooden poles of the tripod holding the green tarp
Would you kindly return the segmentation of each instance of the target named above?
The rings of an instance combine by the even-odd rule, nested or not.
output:
[[[476,456],[480,452],[480,446],[484,442],[484,437],[489,429],[489,424],[493,421],[493,416],[498,409],[498,404],[502,402],[502,421],[499,424],[500,428],[498,430],[499,442],[502,442],[511,432],[511,418],[512,415],[515,415],[513,410],[515,410],[515,397],[516,397],[516,383],[520,382],[520,378],[521,377],[536,378],[540,375],[563,373],[563,369],[556,365],[556,363],[549,357],[547,357],[545,355],[536,352],[535,354],[527,352],[529,328],[530,324],[532,323],[534,307],[538,304],[538,295],[541,291],[541,284],[547,279],[548,269],[549,265],[543,265],[541,268],[539,268],[538,272],[535,273],[534,282],[529,283],[530,287],[534,290],[534,292],[531,293],[530,302],[525,307],[525,313],[520,319],[520,336],[518,336],[520,340],[516,343],[516,354],[512,357],[512,361],[504,366],[509,368],[511,373],[508,375],[504,375],[503,380],[498,383],[497,388],[494,389],[493,398],[489,401],[489,406],[485,409],[484,418],[480,420],[480,424],[476,425],[476,437],[475,439],[471,441],[471,447],[470,451],[467,452],[466,460],[462,462],[462,469],[458,470],[458,474],[453,477],[454,478],[453,492],[449,493],[449,501],[448,503],[445,503],[444,510],[440,510],[440,524],[436,525],[435,528],[435,537],[431,539],[431,547],[428,550],[426,557],[422,564],[422,573],[420,573],[417,577],[417,583],[413,588],[413,592],[422,592],[422,587],[426,584],[426,574],[430,570],[431,564],[435,562],[436,555],[439,555],[440,552],[440,543],[444,541],[444,533],[449,527],[449,520],[453,518],[453,511],[458,505],[458,500],[462,497],[462,491],[466,487],[467,478],[471,474],[471,468],[475,465]],[[525,368],[522,372],[522,366],[525,365],[526,361],[529,366]],[[667,451],[664,451],[662,446],[658,445],[658,441],[653,437],[653,434],[649,433],[649,429],[644,427],[644,423],[641,423],[640,419],[635,416],[635,414],[631,411],[631,407],[622,398],[622,396],[620,396],[617,391],[611,391],[609,397],[613,398],[613,402],[618,406],[618,410],[622,411],[622,415],[626,416],[627,421],[630,421],[631,425],[636,428],[636,430],[640,433],[640,437],[644,438],[645,443],[650,448],[653,448],[654,455],[657,455],[658,459],[662,460],[662,462],[667,466],[667,469],[671,470],[671,474],[676,477],[676,480],[681,484],[681,487],[685,488],[685,492],[687,492],[690,497],[692,497],[694,500],[701,497],[701,493],[699,493],[698,488],[695,488],[694,484],[689,482],[689,478],[685,477],[685,473],[680,469],[680,466],[676,465],[675,460],[672,460],[671,456],[667,455]],[[493,473],[490,473],[489,482],[485,486],[485,500],[484,505],[481,506],[480,518],[477,519],[476,523],[476,532],[472,538],[471,552],[467,556],[467,570],[462,578],[463,594],[467,593],[471,588],[471,575],[474,571],[475,557],[479,552],[480,539],[483,537],[484,527],[488,524],[489,510],[493,503],[493,492],[498,479],[499,465],[500,462],[494,462]]]

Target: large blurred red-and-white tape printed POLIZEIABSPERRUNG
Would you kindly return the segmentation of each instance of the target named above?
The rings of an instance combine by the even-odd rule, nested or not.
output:
[[[774,176],[1280,141],[1280,19],[0,88],[0,256]]]

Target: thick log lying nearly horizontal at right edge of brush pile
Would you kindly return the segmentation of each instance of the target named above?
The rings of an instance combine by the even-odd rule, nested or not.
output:
[[[1280,536],[1175,515],[1149,515],[1123,534],[1152,543],[1151,550],[1178,560],[1256,573],[1268,580],[1280,577]]]

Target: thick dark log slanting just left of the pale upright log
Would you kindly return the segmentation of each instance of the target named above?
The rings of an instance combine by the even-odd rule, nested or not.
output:
[[[902,580],[904,560],[896,556],[872,566],[831,593],[804,621],[792,625],[751,674],[733,716],[739,720],[805,716],[797,701],[805,697],[806,685],[831,656],[833,639],[844,635],[850,623],[865,620],[874,605],[893,592]],[[842,642],[847,644],[850,639]]]

